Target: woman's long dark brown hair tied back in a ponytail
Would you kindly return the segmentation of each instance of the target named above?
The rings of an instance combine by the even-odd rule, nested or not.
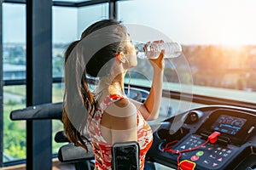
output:
[[[117,49],[122,50],[125,48],[125,44],[121,42],[123,42],[124,38],[127,36],[127,32],[125,27],[121,26],[116,20],[101,20],[84,30],[80,38],[83,40],[84,37],[89,36],[92,32],[107,26],[114,26],[112,29],[108,29],[108,37],[113,37],[113,40],[116,41],[99,49],[96,54],[91,56],[87,63],[83,60],[84,56],[79,56],[83,55],[79,53],[79,49],[84,50],[83,44],[79,44],[81,47],[77,47],[78,50],[76,51],[74,50],[76,46],[79,46],[78,43],[80,40],[72,42],[65,53],[65,94],[62,114],[64,131],[67,135],[67,139],[78,146],[82,146],[87,151],[88,149],[84,143],[84,139],[86,138],[83,138],[82,134],[84,134],[88,114],[93,117],[96,112],[97,101],[94,95],[90,93],[86,74],[91,77],[104,77],[108,75],[110,70],[108,68],[106,71],[103,71],[104,74],[98,75],[98,73],[103,65],[115,57]],[[103,37],[102,40],[104,40]],[[70,59],[68,59],[68,57]],[[75,91],[75,93],[72,93],[73,91]]]

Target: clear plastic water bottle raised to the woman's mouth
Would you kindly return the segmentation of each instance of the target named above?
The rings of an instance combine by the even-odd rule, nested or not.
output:
[[[135,48],[137,50],[137,57],[140,59],[156,59],[160,55],[162,49],[165,49],[164,58],[175,58],[182,54],[182,47],[177,42],[162,42],[147,44],[137,42]]]

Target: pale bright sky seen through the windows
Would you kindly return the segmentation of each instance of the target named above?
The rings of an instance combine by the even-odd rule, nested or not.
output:
[[[255,0],[129,0],[119,20],[150,26],[182,44],[256,44]],[[25,42],[25,5],[3,3],[3,42]],[[53,8],[54,42],[79,38],[86,26],[108,17],[108,5]]]

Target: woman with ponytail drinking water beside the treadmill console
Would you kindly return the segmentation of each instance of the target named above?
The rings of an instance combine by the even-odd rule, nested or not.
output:
[[[145,155],[153,141],[146,121],[157,118],[160,110],[163,53],[158,59],[150,59],[154,77],[148,99],[142,104],[125,96],[125,73],[137,65],[136,49],[125,26],[116,20],[98,21],[67,48],[64,129],[70,141],[85,149],[84,129],[89,133],[95,169],[111,169],[112,145],[128,141],[137,141],[140,145],[140,169],[143,169]],[[82,72],[80,80],[79,72]],[[98,77],[95,91],[90,92],[86,76]],[[83,106],[77,106],[80,100],[84,110]]]

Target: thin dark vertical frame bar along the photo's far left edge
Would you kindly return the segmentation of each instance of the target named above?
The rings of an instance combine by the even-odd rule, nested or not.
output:
[[[3,167],[3,20],[2,2],[0,3],[0,167]]]

